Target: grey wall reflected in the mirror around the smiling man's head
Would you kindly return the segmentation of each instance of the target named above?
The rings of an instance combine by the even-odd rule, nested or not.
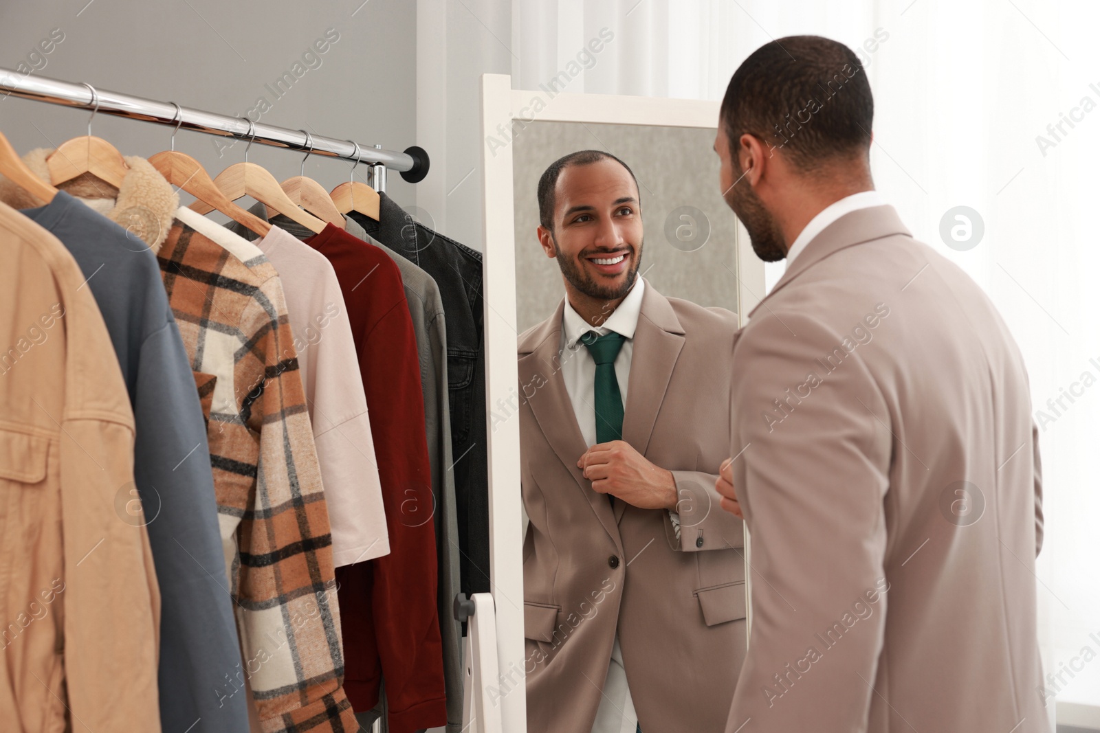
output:
[[[513,129],[518,333],[550,315],[565,293],[558,262],[536,234],[539,177],[562,155],[587,148],[612,153],[638,178],[646,232],[638,271],[666,296],[737,310],[736,219],[719,191],[714,130],[576,122]]]

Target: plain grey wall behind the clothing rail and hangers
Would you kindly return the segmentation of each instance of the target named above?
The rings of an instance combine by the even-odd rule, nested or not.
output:
[[[44,77],[232,115],[244,115],[264,97],[271,109],[257,110],[261,122],[400,151],[417,144],[416,11],[409,0],[362,5],[359,0],[6,2],[0,66],[38,66],[34,74]],[[42,54],[37,44],[53,29],[64,33],[64,41]],[[311,45],[327,29],[339,40],[316,54]],[[304,62],[307,51],[316,56]],[[274,87],[285,71],[294,74],[295,63],[301,64],[300,78],[277,97],[265,85]],[[20,153],[86,134],[87,119],[80,109],[0,99],[0,131]],[[92,133],[124,155],[148,156],[168,148],[170,129],[97,115]],[[176,149],[195,156],[213,176],[242,160],[245,147],[239,142],[219,155],[216,142],[226,144],[180,132]],[[279,180],[298,174],[301,157],[264,145],[249,152],[251,162]],[[306,164],[306,175],[327,189],[346,180],[348,173],[348,164],[330,158]],[[415,203],[415,187],[397,174],[391,175],[387,192],[398,203]]]

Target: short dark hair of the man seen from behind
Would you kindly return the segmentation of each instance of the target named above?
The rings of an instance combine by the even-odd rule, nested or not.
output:
[[[812,173],[870,147],[875,100],[867,71],[848,46],[792,35],[745,59],[726,87],[719,116],[732,156],[748,133]]]

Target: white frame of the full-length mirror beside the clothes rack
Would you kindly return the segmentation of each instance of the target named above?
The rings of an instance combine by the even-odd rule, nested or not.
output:
[[[482,75],[482,170],[484,193],[484,252],[482,297],[485,337],[486,415],[515,399],[519,384],[516,356],[516,251],[513,198],[512,129],[525,122],[591,122],[663,127],[704,127],[718,124],[719,102],[694,99],[579,95],[559,92],[547,101],[542,91],[512,89],[506,74]],[[534,99],[542,101],[536,113]],[[490,146],[507,131],[504,146]],[[714,181],[715,186],[718,181]],[[729,212],[733,216],[734,213]],[[765,293],[763,263],[754,254],[748,233],[738,222],[736,235],[737,277],[740,282],[737,313],[740,324]],[[491,420],[486,424],[492,425]],[[524,680],[524,558],[519,490],[519,421],[505,420],[492,427],[488,441],[490,578],[496,609],[498,686],[503,729],[527,731],[527,697]],[[749,559],[745,537],[746,564]],[[751,574],[746,573],[747,598],[751,598]],[[751,602],[746,629],[752,623]],[[497,680],[486,680],[494,684]],[[517,695],[518,692],[518,695]],[[474,723],[476,726],[477,723]],[[475,728],[475,730],[481,730]]]

